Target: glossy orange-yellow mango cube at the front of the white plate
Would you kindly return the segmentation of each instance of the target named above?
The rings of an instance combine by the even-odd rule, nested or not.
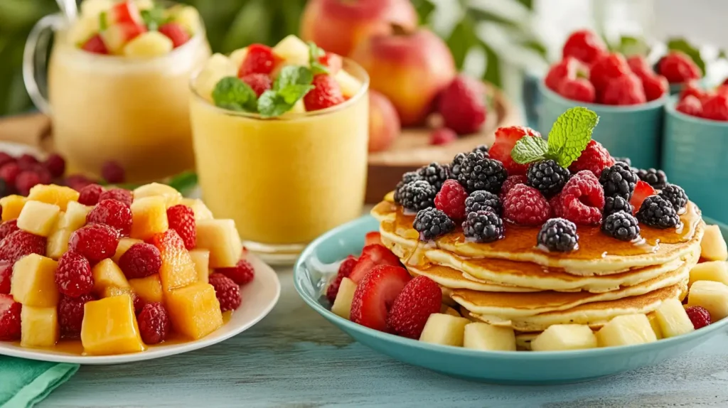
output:
[[[86,353],[94,355],[143,351],[132,297],[119,295],[86,303],[81,343]]]

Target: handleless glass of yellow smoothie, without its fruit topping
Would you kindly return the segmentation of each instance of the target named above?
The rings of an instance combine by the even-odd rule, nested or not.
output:
[[[309,241],[361,215],[369,79],[350,60],[344,70],[363,84],[349,100],[274,119],[218,108],[192,79],[203,199],[215,217],[234,219],[245,246],[269,263],[292,263]]]

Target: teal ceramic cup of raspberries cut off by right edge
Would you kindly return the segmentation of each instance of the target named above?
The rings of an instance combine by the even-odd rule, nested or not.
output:
[[[728,122],[696,118],[665,104],[662,169],[680,185],[703,214],[728,222]]]

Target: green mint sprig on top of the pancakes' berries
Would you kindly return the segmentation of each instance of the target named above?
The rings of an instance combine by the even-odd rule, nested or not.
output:
[[[540,137],[523,136],[513,146],[510,156],[520,164],[552,159],[561,167],[569,167],[579,159],[599,123],[599,116],[577,106],[558,116],[548,133],[548,142]]]

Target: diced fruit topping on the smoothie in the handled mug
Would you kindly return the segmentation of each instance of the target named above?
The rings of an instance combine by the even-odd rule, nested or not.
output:
[[[148,58],[181,47],[202,30],[194,7],[153,0],[86,0],[70,39],[86,52]]]

